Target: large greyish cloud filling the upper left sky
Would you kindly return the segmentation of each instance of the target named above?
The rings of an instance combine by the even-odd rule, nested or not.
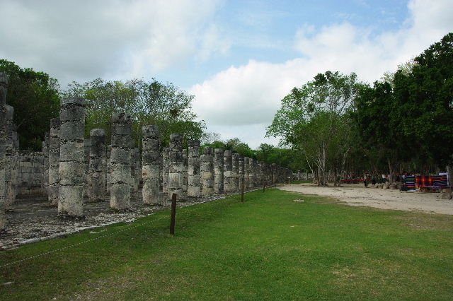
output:
[[[63,83],[147,76],[229,49],[213,22],[219,0],[16,1],[1,3],[0,57]]]

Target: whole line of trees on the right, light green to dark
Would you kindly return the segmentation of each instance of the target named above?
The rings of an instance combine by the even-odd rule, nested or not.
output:
[[[321,185],[350,172],[451,173],[453,33],[373,85],[319,73],[282,99],[267,136],[297,151]]]

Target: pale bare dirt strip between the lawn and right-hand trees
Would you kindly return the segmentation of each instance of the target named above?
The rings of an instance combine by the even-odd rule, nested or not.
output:
[[[377,189],[373,187],[366,188],[364,184],[345,184],[342,187],[288,184],[279,188],[302,194],[330,196],[350,206],[367,206],[453,215],[453,201],[438,198],[438,193]]]

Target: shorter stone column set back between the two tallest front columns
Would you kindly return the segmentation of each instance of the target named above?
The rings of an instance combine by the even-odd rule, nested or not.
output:
[[[90,131],[90,162],[88,166],[88,196],[90,201],[104,201],[106,186],[107,158],[105,157],[105,131]]]

